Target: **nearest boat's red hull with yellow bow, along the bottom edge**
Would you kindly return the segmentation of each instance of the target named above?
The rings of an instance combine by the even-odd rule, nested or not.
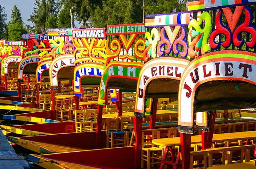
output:
[[[118,155],[117,155],[118,154]],[[30,160],[44,168],[133,168],[134,146],[86,150],[45,155],[29,154]],[[47,162],[53,160],[53,163]],[[43,163],[41,163],[43,162]],[[124,165],[125,164],[125,165]]]

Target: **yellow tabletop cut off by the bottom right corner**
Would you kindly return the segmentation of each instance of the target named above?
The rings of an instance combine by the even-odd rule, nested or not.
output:
[[[255,169],[255,161],[245,162],[245,163],[234,163],[226,165],[216,165],[209,167],[208,169]]]

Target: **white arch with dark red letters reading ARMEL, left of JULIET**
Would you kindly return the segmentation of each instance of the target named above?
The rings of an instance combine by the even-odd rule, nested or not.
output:
[[[177,93],[176,91],[178,91],[181,75],[188,63],[189,61],[186,59],[175,57],[159,57],[145,63],[140,71],[140,76],[138,79],[135,115],[142,118],[145,117],[144,105],[146,100],[146,94],[163,94],[163,91],[165,91],[165,95]],[[154,87],[153,89],[153,86],[151,86],[150,93],[148,93],[149,86],[155,79],[159,79],[161,80],[161,82],[156,82],[157,85],[153,84],[153,86],[156,87]],[[165,80],[162,81],[162,79]],[[173,83],[170,81],[166,81],[172,81],[172,79],[179,81],[173,81]],[[159,85],[161,85],[161,87]]]

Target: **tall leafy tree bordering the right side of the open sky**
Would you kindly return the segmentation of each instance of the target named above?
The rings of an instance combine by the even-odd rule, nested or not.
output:
[[[46,25],[53,26],[53,17],[56,18],[54,27],[57,27],[60,0],[35,0],[34,4],[36,7],[33,7],[34,11],[28,21],[35,24],[35,33],[46,33]]]

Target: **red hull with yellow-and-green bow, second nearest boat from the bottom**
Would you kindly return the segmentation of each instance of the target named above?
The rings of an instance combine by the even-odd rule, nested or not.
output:
[[[95,142],[96,132],[63,133],[40,136],[8,137],[12,143],[40,154],[93,150],[99,145]],[[102,131],[100,148],[106,148],[106,131]]]

